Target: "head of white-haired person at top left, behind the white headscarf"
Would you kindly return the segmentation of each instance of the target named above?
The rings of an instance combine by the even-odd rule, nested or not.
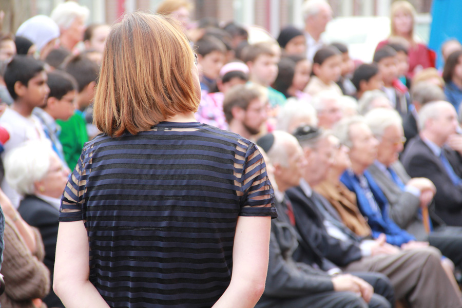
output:
[[[59,26],[61,47],[73,51],[75,45],[83,40],[89,15],[87,7],[73,1],[66,1],[53,9],[50,17]]]

